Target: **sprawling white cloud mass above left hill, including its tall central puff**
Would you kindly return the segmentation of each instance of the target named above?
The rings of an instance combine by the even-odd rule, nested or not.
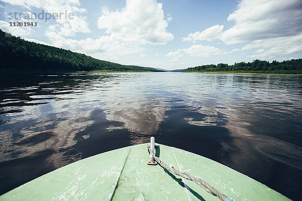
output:
[[[106,8],[103,9],[98,27],[106,29],[106,36],[98,39],[68,39],[66,37],[73,34],[70,23],[49,26],[45,33],[56,47],[95,58],[118,60],[118,56],[143,51],[144,44],[163,45],[173,40],[173,35],[166,31],[167,26],[162,4],[158,4],[156,0],[128,0],[121,11],[109,12]]]

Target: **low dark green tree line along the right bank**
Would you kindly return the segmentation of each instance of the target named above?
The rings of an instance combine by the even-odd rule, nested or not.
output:
[[[302,74],[302,59],[287,61],[261,61],[240,62],[234,65],[219,63],[217,65],[202,65],[187,68],[184,72],[239,72],[239,73],[275,73],[275,74]]]

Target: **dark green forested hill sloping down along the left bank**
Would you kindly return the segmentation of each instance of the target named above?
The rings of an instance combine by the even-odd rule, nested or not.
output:
[[[0,29],[0,72],[154,71],[155,68],[121,65],[62,48],[5,37]]]

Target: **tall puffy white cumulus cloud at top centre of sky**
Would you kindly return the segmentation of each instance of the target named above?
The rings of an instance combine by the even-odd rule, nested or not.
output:
[[[98,20],[98,28],[106,29],[107,34],[138,44],[167,44],[174,39],[167,27],[162,4],[156,0],[127,0],[121,11],[109,12],[104,8]]]

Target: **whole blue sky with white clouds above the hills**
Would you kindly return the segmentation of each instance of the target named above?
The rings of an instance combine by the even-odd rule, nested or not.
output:
[[[101,60],[164,69],[302,58],[301,0],[2,0],[0,29]]]

